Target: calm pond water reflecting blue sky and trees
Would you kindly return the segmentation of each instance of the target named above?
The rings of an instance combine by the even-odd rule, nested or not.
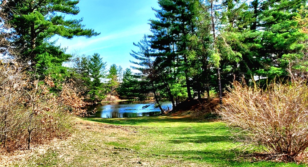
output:
[[[150,105],[147,108],[143,108],[146,105]],[[163,102],[163,109],[172,109],[171,102]],[[152,103],[136,103],[136,102],[115,102],[115,103],[103,103],[102,105],[95,105],[88,108],[92,110],[97,108],[96,113],[91,113],[91,117],[97,118],[127,118],[127,117],[143,117],[153,116],[160,114],[159,108],[154,108]]]

